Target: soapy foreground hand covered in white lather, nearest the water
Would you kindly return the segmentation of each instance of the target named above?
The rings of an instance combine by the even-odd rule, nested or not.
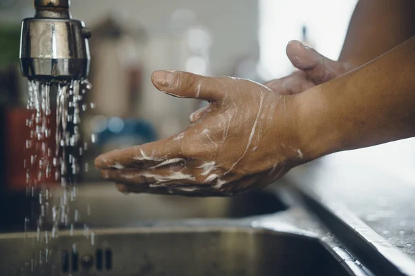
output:
[[[122,192],[230,196],[262,188],[308,161],[295,95],[245,79],[178,71],[154,72],[152,81],[169,95],[210,104],[173,137],[98,157],[102,177]]]

